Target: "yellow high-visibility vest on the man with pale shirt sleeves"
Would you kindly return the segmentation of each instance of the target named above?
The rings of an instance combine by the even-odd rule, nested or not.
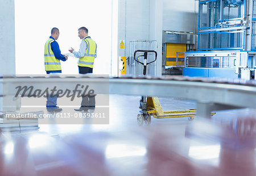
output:
[[[94,58],[96,57],[97,45],[90,37],[85,37],[84,41],[87,44],[84,57],[80,57],[78,61],[79,66],[86,66],[93,68]]]

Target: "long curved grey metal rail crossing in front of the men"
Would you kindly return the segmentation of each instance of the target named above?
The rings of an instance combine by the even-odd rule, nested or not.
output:
[[[47,85],[46,85],[47,82]],[[96,94],[145,95],[196,100],[196,116],[209,118],[210,112],[232,108],[256,108],[256,83],[228,79],[209,80],[171,77],[169,79],[106,78],[106,77],[7,77],[3,86],[6,95],[14,95],[16,86],[35,89],[65,87],[75,89],[77,83],[92,84]],[[109,90],[105,87],[109,86]],[[143,87],[143,89],[141,89]]]

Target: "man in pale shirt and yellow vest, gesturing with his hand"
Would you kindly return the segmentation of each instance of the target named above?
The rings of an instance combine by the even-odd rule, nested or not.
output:
[[[94,58],[97,57],[97,44],[88,36],[86,27],[79,28],[79,37],[82,39],[79,51],[76,52],[73,48],[69,52],[79,58],[78,66],[80,74],[88,74],[93,72]],[[95,95],[82,97],[81,107],[76,111],[88,111],[95,108]]]

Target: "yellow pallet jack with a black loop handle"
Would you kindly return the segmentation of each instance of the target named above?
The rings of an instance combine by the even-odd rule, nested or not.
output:
[[[144,62],[140,62],[139,59],[136,58],[137,52],[143,52],[143,55],[138,57],[144,57]],[[147,63],[147,54],[155,53],[155,60]],[[157,58],[157,53],[152,50],[137,50],[134,52],[134,60],[139,64],[143,65],[143,75],[146,75],[147,65],[155,62]],[[137,116],[137,122],[140,126],[145,123],[146,125],[150,125],[151,116],[156,119],[166,119],[166,118],[184,118],[187,117],[189,120],[193,120],[196,116],[195,109],[189,110],[178,110],[178,111],[163,111],[161,104],[159,102],[158,97],[146,97],[142,96],[139,104],[139,108],[141,109]],[[213,116],[216,112],[212,112],[210,115]]]

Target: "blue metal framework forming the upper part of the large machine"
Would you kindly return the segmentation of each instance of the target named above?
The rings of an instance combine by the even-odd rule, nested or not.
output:
[[[204,16],[207,16],[206,23],[203,23],[203,6],[207,6],[207,13],[204,13]],[[197,46],[198,51],[207,51],[207,50],[230,50],[230,49],[241,49],[246,50],[246,37],[247,37],[247,29],[249,26],[249,19],[247,19],[247,14],[249,11],[247,9],[249,4],[246,0],[210,0],[210,1],[199,1],[199,23],[198,23],[198,34],[199,34],[199,44]],[[236,18],[227,18],[224,17],[224,9],[228,7],[228,17],[232,15],[238,15]],[[238,14],[232,14],[232,9],[237,8]],[[205,27],[201,27],[205,25]],[[233,35],[234,33],[242,33],[241,41],[238,40],[237,43],[240,43],[241,47],[234,47],[230,44],[229,47],[221,47],[222,39],[221,36],[223,34]],[[201,35],[209,34],[208,41],[200,41]],[[210,34],[213,34],[212,36]],[[214,40],[214,41],[213,41]],[[212,43],[216,44],[220,47],[212,46]],[[200,43],[207,42],[208,48],[201,48]],[[226,42],[226,41],[225,41]]]

